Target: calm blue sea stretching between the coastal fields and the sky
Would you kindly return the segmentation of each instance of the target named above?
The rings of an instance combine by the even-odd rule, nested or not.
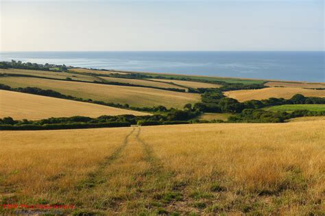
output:
[[[1,52],[0,60],[75,67],[325,82],[324,51]]]

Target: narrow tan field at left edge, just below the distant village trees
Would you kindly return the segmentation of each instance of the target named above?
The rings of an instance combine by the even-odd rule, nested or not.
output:
[[[89,81],[89,82],[93,82],[94,80],[97,80],[95,77],[82,75],[82,74],[75,75],[75,74],[65,73],[65,72],[36,71],[36,70],[26,70],[26,69],[0,69],[0,73],[35,75],[38,77],[49,77],[49,78],[55,78],[61,80],[65,80],[67,77],[71,78],[72,80],[82,80],[82,81]]]

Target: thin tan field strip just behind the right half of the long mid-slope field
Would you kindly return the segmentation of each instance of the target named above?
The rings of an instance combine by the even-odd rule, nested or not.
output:
[[[175,86],[173,84],[167,84],[164,82],[152,82],[149,80],[135,80],[135,79],[124,79],[124,78],[115,78],[115,77],[101,77],[101,78],[109,82],[122,82],[122,83],[130,83],[130,84],[136,84],[142,86],[154,86],[160,88],[180,88],[185,90],[187,89],[187,88],[182,88],[180,86]]]

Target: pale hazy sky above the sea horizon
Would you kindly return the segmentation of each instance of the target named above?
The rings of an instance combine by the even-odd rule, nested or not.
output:
[[[1,51],[324,50],[323,0],[0,1]]]

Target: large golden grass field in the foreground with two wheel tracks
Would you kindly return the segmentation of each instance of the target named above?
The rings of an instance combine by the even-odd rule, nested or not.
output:
[[[0,132],[0,199],[74,204],[76,214],[324,215],[324,127]]]

